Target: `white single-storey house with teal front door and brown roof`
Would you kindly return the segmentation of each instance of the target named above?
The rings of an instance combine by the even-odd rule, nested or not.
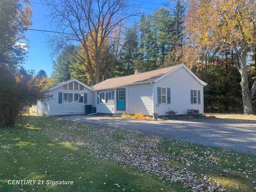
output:
[[[202,114],[205,85],[184,64],[109,78],[93,87],[71,79],[44,90],[52,98],[37,101],[37,113],[85,114],[85,105],[91,105],[98,114],[166,115],[174,110],[181,115],[188,109]]]

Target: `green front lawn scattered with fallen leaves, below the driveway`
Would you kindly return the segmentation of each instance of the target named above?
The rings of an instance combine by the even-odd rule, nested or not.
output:
[[[25,120],[0,129],[0,191],[185,191],[200,182],[256,191],[253,155],[57,117]],[[7,185],[24,178],[74,185]]]

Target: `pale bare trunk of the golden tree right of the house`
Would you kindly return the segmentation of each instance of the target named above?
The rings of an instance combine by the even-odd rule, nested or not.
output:
[[[241,52],[241,69],[239,72],[241,74],[241,88],[242,88],[242,98],[243,98],[243,106],[244,106],[244,114],[253,114],[252,110],[252,95],[251,90],[249,89],[248,82],[248,73],[246,66],[246,51]]]

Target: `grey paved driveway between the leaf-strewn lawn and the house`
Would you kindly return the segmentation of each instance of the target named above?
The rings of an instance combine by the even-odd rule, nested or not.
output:
[[[233,119],[186,119],[142,121],[85,115],[61,118],[113,129],[137,130],[175,140],[191,141],[256,155],[256,121]]]

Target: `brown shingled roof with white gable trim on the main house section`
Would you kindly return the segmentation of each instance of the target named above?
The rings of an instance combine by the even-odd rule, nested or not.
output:
[[[140,74],[109,78],[101,83],[94,85],[93,89],[95,91],[108,90],[108,89],[114,89],[114,88],[118,88],[126,85],[157,82],[159,81],[159,79],[162,79],[165,76],[173,73],[175,70],[179,69],[180,67],[184,67],[188,71],[188,73],[190,73],[199,83],[201,83],[202,85],[207,85],[205,82],[199,79],[186,65],[180,64],[180,65],[166,67],[162,69],[147,71]]]

